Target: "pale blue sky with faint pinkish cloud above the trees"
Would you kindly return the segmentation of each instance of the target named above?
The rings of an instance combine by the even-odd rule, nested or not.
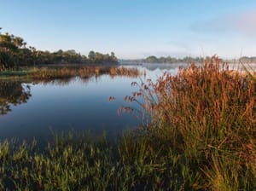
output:
[[[253,0],[0,0],[0,27],[36,49],[83,55],[256,56]]]

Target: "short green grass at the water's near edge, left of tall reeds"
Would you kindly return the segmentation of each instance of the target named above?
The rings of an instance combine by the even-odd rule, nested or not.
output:
[[[39,150],[34,141],[0,144],[1,190],[183,189],[177,159],[154,150],[147,136],[129,133],[116,143],[104,136],[68,133]]]

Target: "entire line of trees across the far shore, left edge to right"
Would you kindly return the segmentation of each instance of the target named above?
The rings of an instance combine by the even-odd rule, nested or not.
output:
[[[1,30],[1,27],[0,27]],[[147,58],[137,60],[122,60],[118,59],[116,55],[111,52],[110,54],[102,54],[90,50],[89,54],[81,55],[74,49],[62,50],[59,49],[54,52],[42,51],[35,49],[32,46],[27,47],[23,38],[16,37],[13,34],[1,33],[0,31],[0,71],[8,69],[17,69],[23,66],[38,66],[48,64],[138,64],[138,63],[191,63],[203,62],[209,56],[191,57],[186,56],[183,58],[175,58],[171,56],[156,57],[150,55]],[[236,61],[225,60],[225,61]],[[256,57],[243,56],[239,59],[242,62],[256,62]]]

